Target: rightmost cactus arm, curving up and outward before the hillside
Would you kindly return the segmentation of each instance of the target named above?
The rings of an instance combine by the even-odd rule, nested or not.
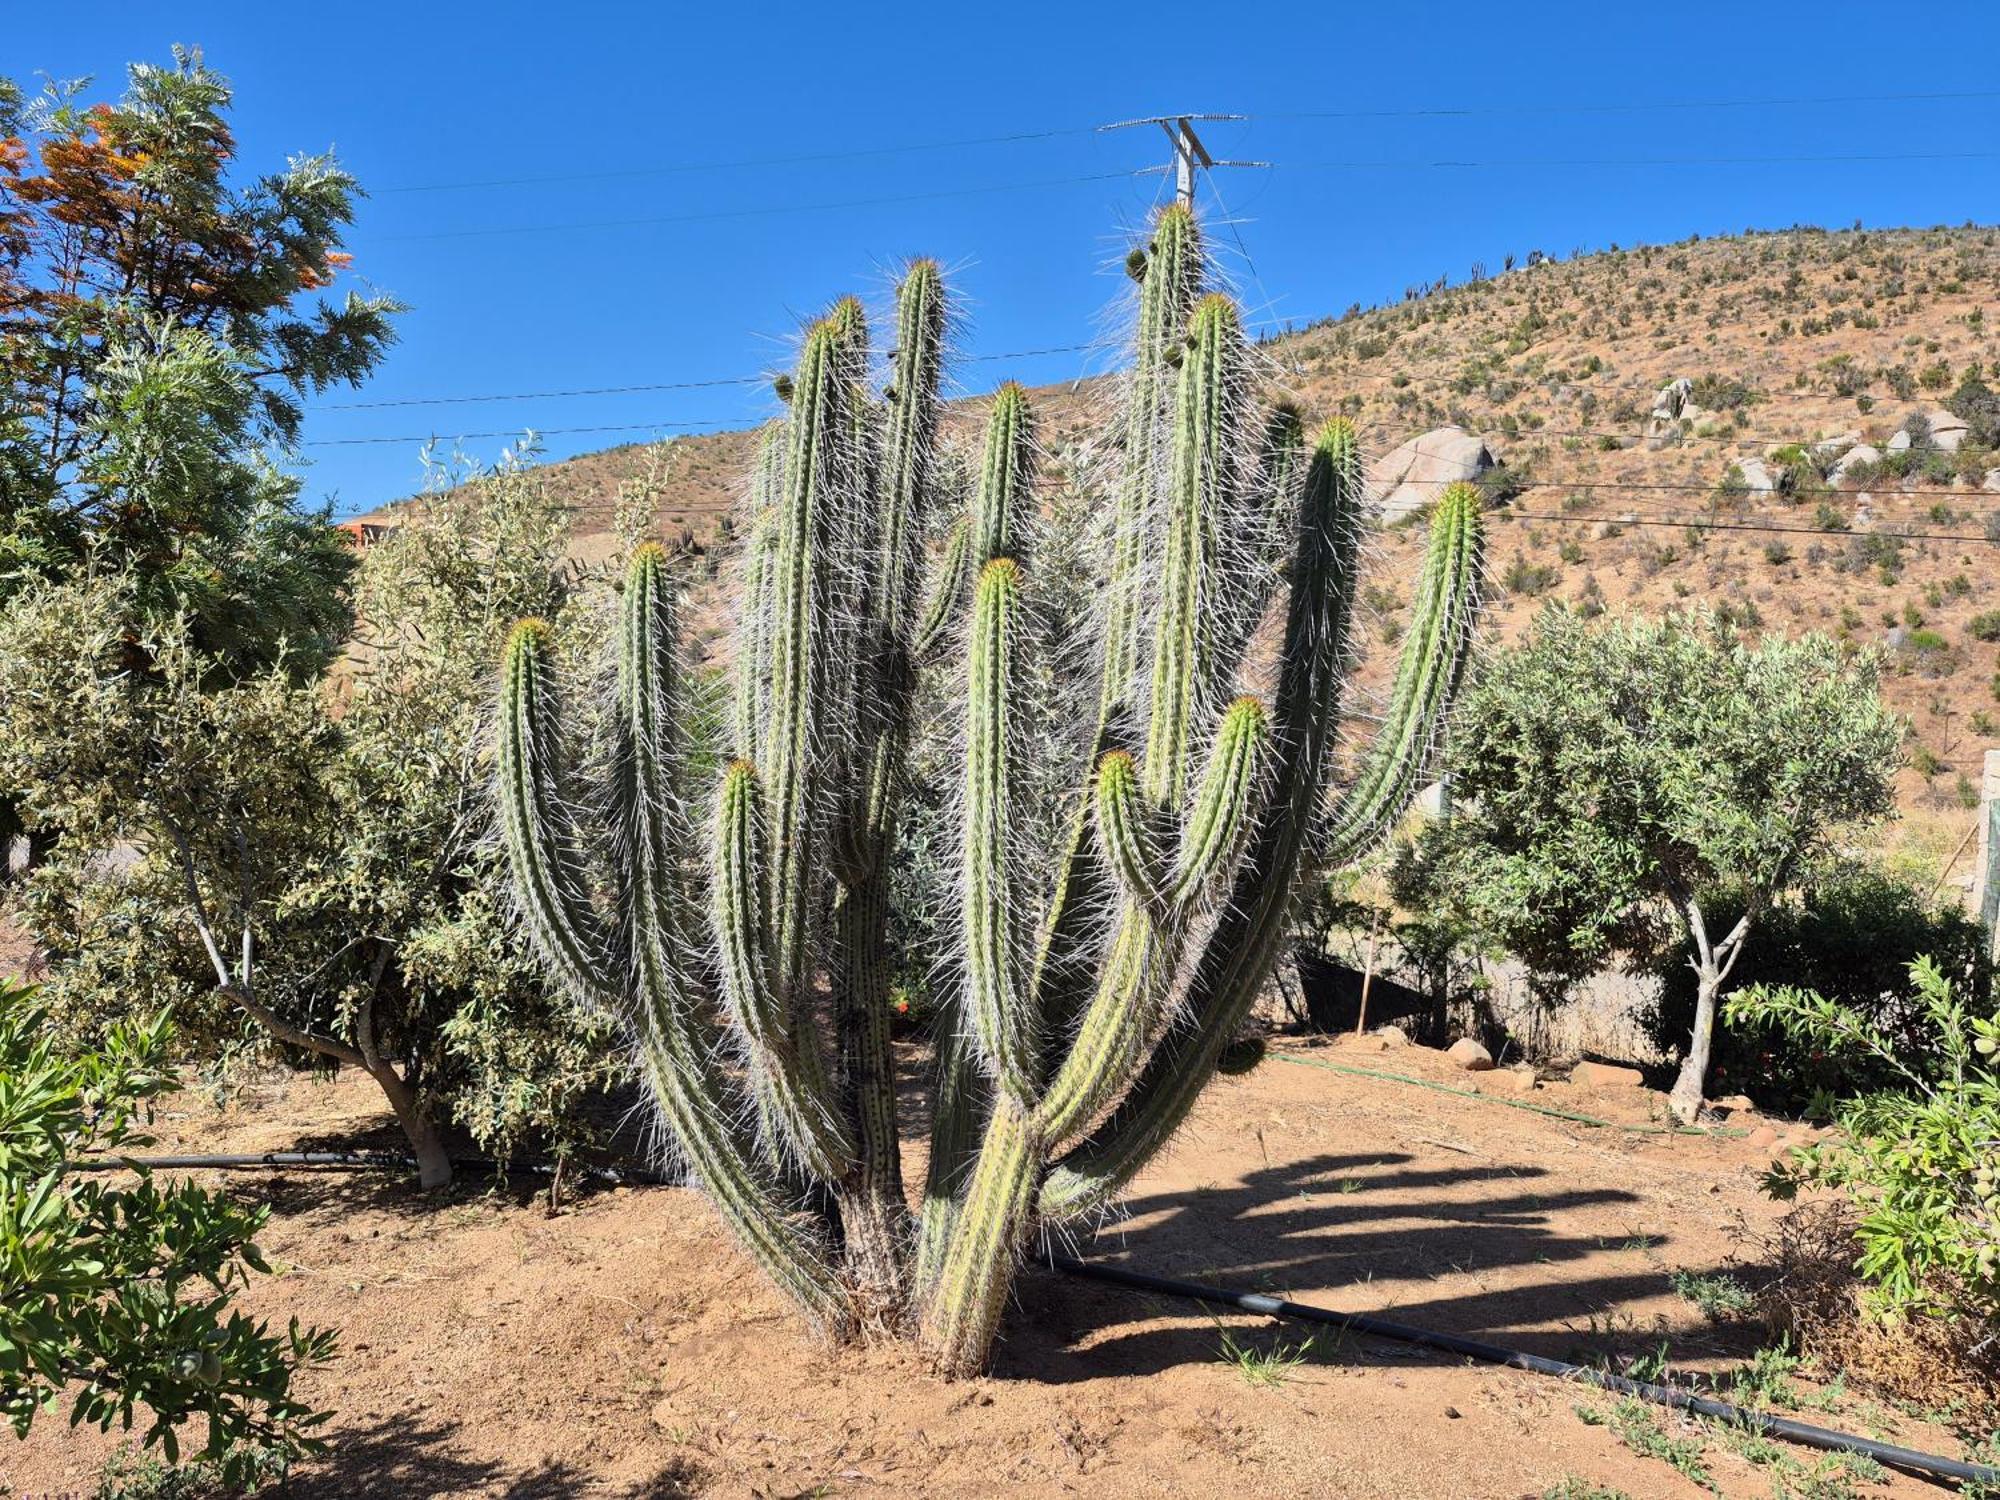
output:
[[[1480,494],[1450,484],[1438,496],[1396,688],[1362,770],[1330,820],[1332,860],[1358,858],[1416,796],[1444,712],[1472,646],[1480,584]]]

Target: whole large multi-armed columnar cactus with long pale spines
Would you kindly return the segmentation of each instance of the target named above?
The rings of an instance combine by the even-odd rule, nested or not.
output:
[[[1020,386],[992,400],[954,514],[932,262],[902,282],[880,390],[852,300],[780,384],[744,546],[734,758],[694,790],[706,850],[658,548],[626,576],[600,792],[576,796],[564,770],[548,632],[524,622],[506,654],[500,806],[536,946],[628,1018],[672,1140],[772,1278],[830,1332],[918,1330],[954,1374],[986,1360],[1038,1226],[1102,1212],[1188,1116],[1302,880],[1400,816],[1472,632],[1478,500],[1452,486],[1386,724],[1332,798],[1354,430],[1332,420],[1308,444],[1296,410],[1258,408],[1240,314],[1204,292],[1184,208],[1132,270],[1092,670],[1038,608]],[[946,528],[926,598],[926,540]],[[954,784],[934,788],[958,868],[944,950],[910,956],[892,948],[892,876],[924,674],[958,704]],[[912,1214],[890,976],[926,968],[944,998]]]

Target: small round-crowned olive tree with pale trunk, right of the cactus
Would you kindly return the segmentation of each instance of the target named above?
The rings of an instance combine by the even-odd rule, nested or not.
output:
[[[1692,1120],[1744,944],[1842,832],[1892,812],[1900,742],[1874,660],[1826,636],[1550,606],[1466,694],[1456,810],[1404,856],[1400,896],[1466,912],[1544,992],[1684,934],[1696,1008],[1670,1106]]]

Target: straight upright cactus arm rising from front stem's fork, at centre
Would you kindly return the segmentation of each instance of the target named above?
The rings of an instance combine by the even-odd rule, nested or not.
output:
[[[1022,1106],[1034,1096],[1036,1026],[1020,974],[1020,920],[1010,868],[1012,796],[1018,772],[1008,720],[1020,692],[1014,632],[1020,566],[994,558],[980,572],[972,606],[966,686],[964,886],[966,994],[974,1036],[1000,1090]]]

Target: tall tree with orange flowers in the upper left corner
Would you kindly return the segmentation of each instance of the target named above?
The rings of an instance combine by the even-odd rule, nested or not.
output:
[[[0,80],[0,602],[116,568],[224,662],[324,660],[350,558],[266,454],[394,340],[392,298],[328,296],[360,188],[330,156],[238,180],[200,52],[84,88]]]

